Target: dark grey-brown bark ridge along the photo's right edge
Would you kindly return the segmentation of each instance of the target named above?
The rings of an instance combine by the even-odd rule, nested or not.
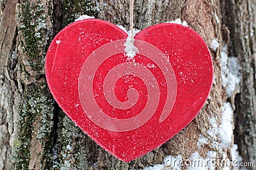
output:
[[[241,90],[236,95],[236,143],[244,161],[256,159],[256,2],[223,1],[223,21],[230,29],[229,52],[239,59]],[[228,42],[227,42],[228,43]],[[232,99],[231,99],[232,100]]]

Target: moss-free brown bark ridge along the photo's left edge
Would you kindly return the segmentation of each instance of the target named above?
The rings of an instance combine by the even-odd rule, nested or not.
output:
[[[0,13],[0,169],[12,169],[11,152],[15,141],[19,89],[17,79],[17,1],[1,1]]]

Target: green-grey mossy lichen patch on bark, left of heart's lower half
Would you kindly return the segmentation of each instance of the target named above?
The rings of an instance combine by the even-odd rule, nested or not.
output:
[[[13,148],[15,169],[28,169],[32,134],[36,134],[36,138],[42,139],[41,145],[44,149],[45,141],[50,140],[52,129],[52,99],[44,83],[28,87],[22,101],[24,103],[19,115],[19,137],[15,139]],[[35,122],[37,122],[37,128]],[[35,130],[37,131],[35,132]]]

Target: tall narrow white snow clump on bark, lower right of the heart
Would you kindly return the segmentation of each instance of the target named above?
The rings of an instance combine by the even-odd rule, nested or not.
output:
[[[233,110],[230,103],[224,103],[221,108],[221,124],[219,126],[220,147],[228,148],[233,138]]]

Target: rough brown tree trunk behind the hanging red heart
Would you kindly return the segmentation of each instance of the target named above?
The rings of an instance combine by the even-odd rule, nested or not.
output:
[[[255,0],[135,1],[136,29],[181,18],[202,36],[214,83],[193,122],[131,162],[116,159],[76,127],[54,102],[44,72],[47,48],[63,27],[85,14],[128,29],[129,1],[1,0],[0,6],[0,169],[172,169],[164,164],[168,155],[238,159],[234,143],[244,162],[255,162]]]

